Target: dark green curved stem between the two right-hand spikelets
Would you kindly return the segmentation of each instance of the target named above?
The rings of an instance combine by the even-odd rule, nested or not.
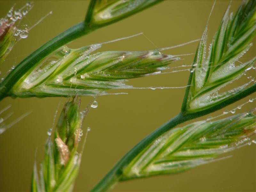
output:
[[[195,119],[200,116],[207,115],[214,111],[217,111],[221,108],[224,108],[231,103],[234,103],[256,91],[256,84],[248,87],[243,92],[236,94],[235,96],[225,100],[224,102],[216,105],[210,109],[203,110],[196,113],[182,113],[180,112],[177,116],[173,117],[171,120],[163,124],[161,127],[156,129],[154,132],[150,133],[147,137],[141,140],[137,145],[135,145],[128,153],[126,153],[119,162],[107,173],[107,175],[100,180],[100,182],[92,188],[91,191],[107,191],[110,189],[116,182],[120,180],[124,168],[135,158],[144,148],[146,148],[151,142],[156,140],[160,135],[169,131],[176,125],[179,125],[183,122],[186,122],[191,119]]]

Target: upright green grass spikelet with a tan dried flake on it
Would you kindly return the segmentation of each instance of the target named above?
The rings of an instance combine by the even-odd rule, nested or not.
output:
[[[66,103],[54,134],[45,144],[45,157],[38,175],[36,162],[31,191],[71,191],[79,171],[82,154],[77,152],[86,111],[79,112],[77,96]],[[50,131],[48,132],[50,135]]]

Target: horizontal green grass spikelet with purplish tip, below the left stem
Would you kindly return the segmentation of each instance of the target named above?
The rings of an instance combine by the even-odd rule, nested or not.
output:
[[[13,86],[13,97],[96,95],[102,90],[125,89],[126,79],[161,73],[178,60],[158,50],[108,51],[91,54],[101,44],[80,49],[63,46],[40,61]]]

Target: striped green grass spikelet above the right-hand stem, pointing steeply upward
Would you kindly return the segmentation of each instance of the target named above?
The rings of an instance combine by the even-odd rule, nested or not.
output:
[[[229,7],[212,40],[207,58],[207,26],[205,28],[193,62],[194,73],[184,98],[184,112],[212,108],[243,92],[248,85],[255,85],[255,80],[251,79],[246,84],[220,93],[221,88],[250,70],[256,60],[255,57],[245,63],[238,61],[252,46],[250,42],[256,34],[256,1],[243,1],[234,17],[228,13]]]

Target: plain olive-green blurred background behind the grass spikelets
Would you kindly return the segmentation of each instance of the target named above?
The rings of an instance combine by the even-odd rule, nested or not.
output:
[[[27,1],[1,1],[1,17],[11,6],[20,8]],[[209,23],[209,42],[217,30],[229,1],[217,1]],[[231,11],[236,11],[241,1],[233,1]],[[35,28],[28,38],[21,39],[1,66],[2,75],[17,65],[36,48],[58,35],[63,30],[84,19],[89,1],[35,1],[34,8],[22,20],[32,26],[41,17],[52,11]],[[109,41],[143,32],[144,35],[105,44],[100,51],[142,51],[185,43],[201,37],[213,1],[165,1],[125,20],[101,28],[69,44],[71,48]],[[148,39],[150,39],[151,43]],[[255,41],[255,39],[254,39]],[[255,43],[255,42],[254,42]],[[184,54],[196,51],[197,43],[167,50],[167,54]],[[255,44],[241,61],[255,55]],[[172,64],[190,64],[193,56]],[[255,70],[249,74],[255,76]],[[189,72],[148,76],[128,82],[139,86],[184,86]],[[243,77],[240,83],[248,80]],[[238,81],[237,81],[238,82]],[[237,83],[235,82],[235,83]],[[185,89],[122,90],[128,95],[101,96],[99,107],[92,109],[84,122],[84,129],[91,127],[84,149],[79,175],[74,191],[88,191],[108,170],[136,143],[171,117],[179,113]],[[252,98],[255,97],[251,95]],[[82,98],[84,108],[92,97]],[[249,97],[225,109],[232,109],[248,101]],[[26,118],[1,134],[1,191],[29,191],[32,166],[40,163],[44,155],[47,130],[53,116],[65,98],[28,98],[1,101],[1,109],[12,104],[7,120],[11,123],[22,114],[33,110]],[[255,107],[255,102],[245,105],[239,112]],[[212,114],[219,115],[220,111]],[[59,111],[60,112],[60,111]],[[4,115],[8,114],[7,112]],[[59,114],[59,113],[58,113]],[[3,115],[3,116],[4,116]],[[204,116],[200,119],[205,119]],[[118,183],[113,191],[256,191],[256,145],[245,146],[225,154],[231,158],[205,164],[187,172]]]

